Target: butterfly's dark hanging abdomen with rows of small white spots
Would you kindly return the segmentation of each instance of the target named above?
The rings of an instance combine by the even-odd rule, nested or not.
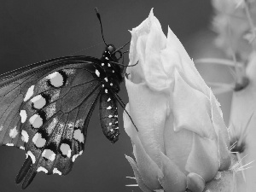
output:
[[[119,139],[119,119],[116,98],[107,89],[100,98],[100,120],[102,131],[108,140],[115,143]]]

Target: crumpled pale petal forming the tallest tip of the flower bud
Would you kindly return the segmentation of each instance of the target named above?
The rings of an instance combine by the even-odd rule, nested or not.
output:
[[[160,22],[150,14],[140,26],[131,31],[130,64],[139,61],[143,73],[139,76],[144,79],[153,90],[166,90],[171,84],[169,77],[161,63],[160,50],[166,48],[166,36],[162,32]],[[127,70],[129,73],[131,69]],[[131,71],[134,71],[132,69]],[[133,75],[133,78],[137,78]],[[131,79],[134,83],[134,79]],[[143,81],[139,81],[141,83]]]

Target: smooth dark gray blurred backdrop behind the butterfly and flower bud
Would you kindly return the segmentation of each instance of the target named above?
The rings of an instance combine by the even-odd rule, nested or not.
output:
[[[1,0],[0,73],[63,55],[100,57],[104,44],[95,7],[102,15],[107,43],[116,47],[131,39],[128,30],[138,26],[154,8],[163,31],[166,33],[169,25],[191,57],[206,55],[214,49],[205,48],[212,44],[213,37],[209,31],[212,20],[209,0]],[[81,49],[84,50],[79,51]],[[128,63],[128,55],[125,62]],[[201,67],[202,72],[208,69]],[[126,103],[125,84],[121,89],[120,96]],[[223,99],[220,97],[219,101]],[[119,108],[119,114],[122,112]],[[224,109],[225,118],[227,112],[228,108]],[[131,166],[125,160],[125,154],[131,155],[132,148],[121,117],[119,115],[119,142],[111,144],[102,134],[96,107],[90,120],[84,154],[76,160],[73,171],[66,177],[39,172],[26,191],[141,191],[137,187],[125,187],[125,184],[136,182],[126,178],[133,177]],[[15,176],[24,160],[24,151],[0,148],[1,192],[22,191],[15,184]]]

